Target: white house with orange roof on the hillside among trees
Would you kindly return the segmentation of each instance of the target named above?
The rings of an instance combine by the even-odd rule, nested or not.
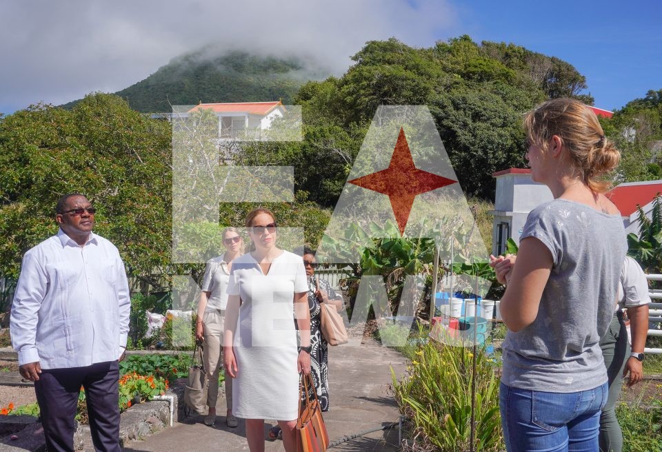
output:
[[[187,113],[212,110],[219,117],[219,138],[259,138],[274,119],[283,117],[285,107],[278,102],[200,103]]]

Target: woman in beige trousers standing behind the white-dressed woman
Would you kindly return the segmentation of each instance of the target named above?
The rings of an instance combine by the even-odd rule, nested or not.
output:
[[[216,402],[219,396],[219,368],[221,361],[221,345],[223,342],[223,319],[225,307],[228,305],[228,281],[232,260],[243,254],[243,238],[234,227],[228,227],[221,232],[225,253],[223,256],[212,258],[207,263],[205,277],[198,303],[198,320],[195,326],[195,338],[205,340],[204,360],[209,380],[207,392],[208,415],[206,425],[216,422]],[[225,376],[225,404],[228,408],[225,424],[228,427],[237,427],[239,422],[232,415],[232,378]]]

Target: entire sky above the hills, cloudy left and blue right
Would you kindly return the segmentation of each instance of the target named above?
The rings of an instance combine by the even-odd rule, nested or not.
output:
[[[660,17],[657,0],[0,0],[0,112],[115,92],[208,44],[314,55],[343,74],[366,41],[462,34],[568,61],[596,107],[616,110],[662,89]]]

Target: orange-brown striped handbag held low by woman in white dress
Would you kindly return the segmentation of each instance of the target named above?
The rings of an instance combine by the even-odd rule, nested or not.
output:
[[[314,399],[310,399],[310,391]],[[303,397],[305,394],[305,398]],[[297,452],[325,452],[329,446],[329,434],[322,418],[310,373],[301,376],[299,382],[299,417],[297,418]]]

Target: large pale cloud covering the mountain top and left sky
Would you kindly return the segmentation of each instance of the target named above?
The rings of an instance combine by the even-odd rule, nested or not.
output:
[[[456,22],[448,0],[0,0],[0,111],[121,90],[209,43],[343,72],[365,41],[429,46]]]

